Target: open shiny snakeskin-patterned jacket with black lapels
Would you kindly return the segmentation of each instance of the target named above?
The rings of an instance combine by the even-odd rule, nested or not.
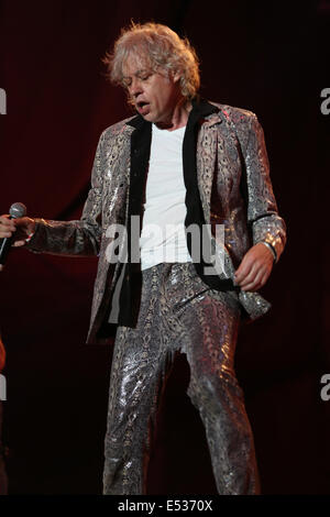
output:
[[[262,127],[251,111],[216,105],[217,113],[205,118],[197,139],[197,174],[207,223],[224,224],[226,275],[234,270],[249,248],[268,242],[279,258],[286,240],[285,223],[277,213],[270,179]],[[91,174],[91,189],[78,221],[36,219],[28,248],[62,255],[99,255],[88,343],[101,342],[97,332],[109,314],[119,278],[119,264],[107,260],[110,224],[125,224],[130,182],[130,143],[134,131],[124,120],[100,136]],[[248,202],[240,187],[243,167]],[[248,207],[246,207],[248,205]],[[239,294],[242,307],[255,319],[270,304],[258,293]]]

